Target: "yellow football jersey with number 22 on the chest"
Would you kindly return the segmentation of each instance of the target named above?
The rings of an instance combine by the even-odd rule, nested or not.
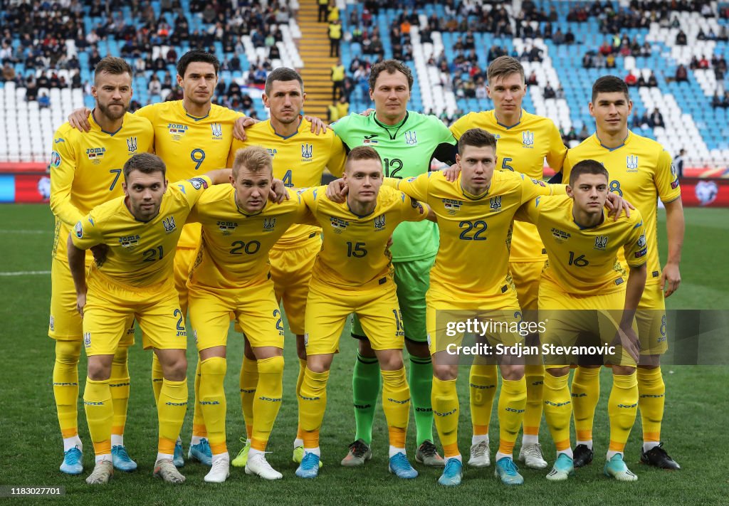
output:
[[[564,194],[561,184],[510,171],[494,171],[483,195],[470,195],[461,188],[460,176],[451,183],[440,172],[385,182],[427,203],[437,215],[440,249],[430,287],[456,300],[484,302],[513,290],[507,279],[507,236],[519,206],[538,195]]]

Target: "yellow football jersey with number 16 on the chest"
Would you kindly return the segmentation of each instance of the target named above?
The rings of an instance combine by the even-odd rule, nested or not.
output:
[[[625,252],[628,265],[643,265],[647,244],[639,212],[622,214],[617,221],[604,215],[596,227],[574,222],[574,201],[567,195],[537,197],[524,204],[516,219],[537,226],[547,249],[542,280],[551,281],[570,295],[603,295],[625,289],[627,276],[617,263],[617,252]]]

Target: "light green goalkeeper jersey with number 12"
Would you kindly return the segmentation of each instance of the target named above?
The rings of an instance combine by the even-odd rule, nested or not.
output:
[[[407,179],[430,170],[433,158],[451,165],[456,162],[456,139],[435,116],[408,111],[397,125],[384,125],[375,114],[349,114],[332,123],[347,151],[357,146],[373,147],[382,158],[386,177]],[[408,262],[434,256],[438,230],[433,222],[402,222],[392,234],[392,261]]]

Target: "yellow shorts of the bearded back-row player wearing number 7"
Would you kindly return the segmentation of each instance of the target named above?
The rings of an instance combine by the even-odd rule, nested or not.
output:
[[[87,268],[90,265],[87,264]],[[78,340],[83,335],[81,315],[76,311],[76,288],[71,277],[69,262],[54,258],[50,268],[50,322],[48,335],[56,340]],[[119,346],[134,344],[134,316],[125,320]]]

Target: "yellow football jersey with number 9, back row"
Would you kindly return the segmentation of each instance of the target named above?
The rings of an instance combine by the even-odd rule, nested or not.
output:
[[[178,181],[227,166],[233,125],[243,113],[212,104],[207,116],[187,114],[182,100],[144,106],[135,114],[155,128],[155,154],[167,165],[167,179]],[[186,225],[181,248],[197,248],[200,225]]]

